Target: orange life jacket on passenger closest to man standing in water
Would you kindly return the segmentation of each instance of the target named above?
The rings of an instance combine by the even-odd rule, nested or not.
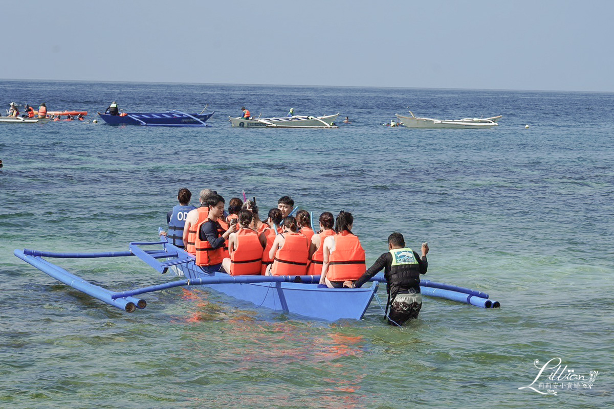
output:
[[[335,251],[328,256],[328,272],[326,278],[330,281],[358,280],[367,270],[365,250],[358,237],[344,230],[335,234]]]

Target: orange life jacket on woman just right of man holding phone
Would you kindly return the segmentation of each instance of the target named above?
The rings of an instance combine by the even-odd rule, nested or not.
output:
[[[262,244],[258,233],[249,227],[235,232],[236,248],[230,254],[230,275],[260,274],[262,272]]]

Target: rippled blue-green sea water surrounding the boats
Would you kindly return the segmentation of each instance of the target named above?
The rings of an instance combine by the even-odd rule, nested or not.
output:
[[[614,405],[614,94],[1,82],[0,104],[26,101],[85,109],[90,121],[0,125],[0,407]],[[111,101],[146,112],[208,103],[216,114],[204,129],[92,123]],[[352,122],[230,128],[243,105]],[[381,125],[408,106],[503,119],[489,130]],[[425,278],[486,291],[502,308],[426,297],[418,321],[393,328],[378,300],[361,321],[326,323],[173,289],[128,314],[12,254],[153,240],[182,187],[227,201],[244,189],[263,213],[285,194],[316,214],[350,211],[368,263],[400,231],[414,248],[429,242]],[[58,264],[111,289],[167,280],[132,259]],[[592,387],[540,375],[534,361],[555,358],[564,373],[599,372]],[[540,391],[558,383],[556,396],[518,389],[535,379]]]

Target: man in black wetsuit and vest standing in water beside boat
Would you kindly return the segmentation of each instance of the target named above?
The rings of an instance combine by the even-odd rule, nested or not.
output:
[[[344,281],[343,286],[357,288],[366,283],[371,277],[384,269],[388,292],[386,315],[388,324],[402,326],[406,321],[418,318],[422,308],[422,294],[420,294],[420,275],[426,274],[429,263],[426,254],[429,253],[428,243],[422,243],[422,257],[418,253],[405,247],[403,235],[397,232],[388,236],[387,253],[382,254],[373,263],[373,266],[354,281]],[[390,308],[390,313],[388,313]]]

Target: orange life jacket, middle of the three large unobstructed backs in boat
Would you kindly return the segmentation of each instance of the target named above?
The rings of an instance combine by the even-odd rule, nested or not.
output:
[[[275,254],[272,275],[305,275],[309,248],[307,237],[300,233],[285,232],[284,245]]]

